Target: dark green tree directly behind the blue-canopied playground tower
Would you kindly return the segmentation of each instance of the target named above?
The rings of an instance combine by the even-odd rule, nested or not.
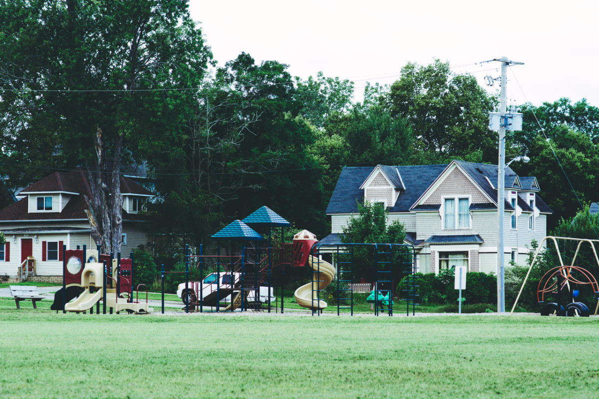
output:
[[[176,176],[156,176],[164,196],[151,207],[159,221],[153,228],[199,244],[267,205],[326,233],[322,167],[308,151],[316,130],[299,116],[302,104],[286,69],[276,61],[256,65],[242,53],[205,81],[179,144],[155,160]]]

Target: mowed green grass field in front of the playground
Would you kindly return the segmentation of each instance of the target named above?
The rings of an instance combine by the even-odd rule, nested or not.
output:
[[[2,302],[1,398],[578,399],[599,391],[599,318],[63,315]]]

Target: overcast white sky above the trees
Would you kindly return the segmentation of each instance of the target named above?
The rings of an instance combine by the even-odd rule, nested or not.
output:
[[[435,58],[486,87],[500,64],[474,63],[506,56],[525,63],[508,72],[510,103],[535,105],[567,97],[599,106],[598,11],[592,0],[190,0],[220,65],[246,51],[301,78],[350,79],[361,93],[366,81],[392,83],[407,62]]]

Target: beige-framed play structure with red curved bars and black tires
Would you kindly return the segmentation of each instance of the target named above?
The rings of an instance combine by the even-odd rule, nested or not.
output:
[[[558,240],[564,241],[564,251],[561,251],[559,248]],[[530,275],[539,252],[543,248],[545,242],[553,243],[555,246],[559,266],[547,270],[537,285],[537,301],[541,306],[541,316],[589,316],[589,307],[582,301],[577,301],[580,289],[575,289],[587,287],[592,291],[594,300],[597,300],[594,313],[594,315],[597,315],[597,310],[599,310],[599,285],[597,284],[597,279],[595,279],[592,273],[587,269],[575,266],[575,264],[579,260],[580,249],[582,248],[583,243],[588,243],[592,254],[594,255],[595,265],[599,267],[599,257],[597,256],[597,251],[595,249],[595,243],[598,243],[599,240],[556,236],[546,236],[539,243],[539,248],[537,248],[537,251],[534,254],[533,261],[528,268],[527,275],[522,282],[522,286],[514,301],[510,314],[516,309],[522,290],[524,290],[524,285],[528,280],[528,276]],[[571,258],[570,264],[564,264],[564,257],[567,255],[565,248],[568,242],[574,243],[576,245],[576,250]],[[548,300],[549,297],[552,297],[552,300]]]

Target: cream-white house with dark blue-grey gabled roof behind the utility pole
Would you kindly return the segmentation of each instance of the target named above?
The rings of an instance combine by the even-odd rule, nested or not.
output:
[[[497,270],[497,165],[454,160],[449,165],[344,167],[326,209],[338,243],[343,227],[358,214],[358,202],[383,203],[388,221],[404,224],[415,245],[417,266],[438,273],[452,266],[473,272]],[[524,263],[533,239],[540,242],[552,210],[539,197],[534,177],[507,167],[504,234],[506,266]]]

